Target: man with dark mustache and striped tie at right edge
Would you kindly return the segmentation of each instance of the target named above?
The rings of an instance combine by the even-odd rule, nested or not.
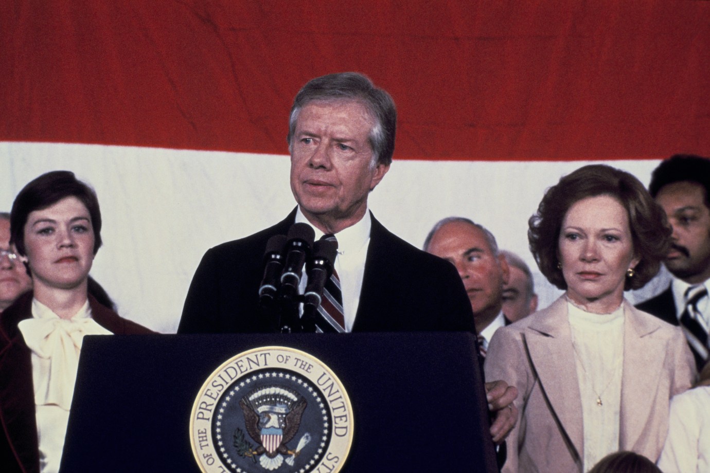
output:
[[[709,358],[710,159],[673,155],[654,169],[649,191],[673,228],[665,266],[674,278],[637,307],[681,325],[701,371]]]

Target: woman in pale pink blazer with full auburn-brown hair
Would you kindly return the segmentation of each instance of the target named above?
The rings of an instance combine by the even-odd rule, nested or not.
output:
[[[518,388],[505,472],[586,472],[630,450],[655,461],[669,401],[695,375],[682,332],[635,309],[623,291],[658,271],[671,230],[628,172],[577,169],[547,189],[530,218],[530,250],[565,293],[501,328],[486,377]]]

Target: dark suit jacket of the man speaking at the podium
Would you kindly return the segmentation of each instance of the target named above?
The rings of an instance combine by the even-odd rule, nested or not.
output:
[[[178,333],[269,332],[259,316],[263,252],[285,235],[295,210],[271,228],[211,248],[192,278]],[[474,332],[471,304],[449,262],[418,250],[372,218],[354,332]]]

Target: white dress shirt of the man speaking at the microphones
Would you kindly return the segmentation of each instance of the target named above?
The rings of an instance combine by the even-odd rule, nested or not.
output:
[[[323,236],[323,232],[310,223],[301,212],[300,206],[296,211],[295,223],[308,223],[315,230],[315,239]],[[365,260],[367,249],[370,246],[370,228],[372,218],[370,211],[365,210],[365,216],[358,223],[349,226],[335,234],[338,240],[338,256],[334,267],[340,279],[340,288],[343,295],[343,312],[345,317],[345,331],[351,332],[355,323],[357,308],[360,304],[360,291],[365,273]],[[303,292],[307,284],[305,271],[301,278],[300,291]]]

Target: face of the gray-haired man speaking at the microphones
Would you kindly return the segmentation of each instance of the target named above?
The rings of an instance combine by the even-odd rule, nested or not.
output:
[[[365,214],[368,193],[389,169],[372,165],[375,120],[353,100],[312,101],[291,142],[291,191],[311,223],[336,233]]]

